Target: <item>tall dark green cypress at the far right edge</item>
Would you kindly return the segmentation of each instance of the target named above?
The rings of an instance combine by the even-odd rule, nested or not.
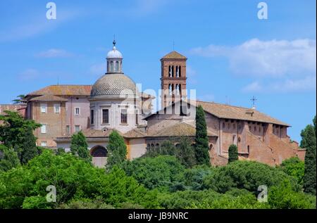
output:
[[[306,148],[304,191],[316,195],[316,133],[312,125],[307,125],[301,133],[301,147]]]

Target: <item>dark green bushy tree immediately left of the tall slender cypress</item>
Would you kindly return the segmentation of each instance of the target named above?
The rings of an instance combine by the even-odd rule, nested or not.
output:
[[[176,157],[185,167],[193,167],[196,164],[195,151],[188,137],[182,137],[180,144],[176,146]]]

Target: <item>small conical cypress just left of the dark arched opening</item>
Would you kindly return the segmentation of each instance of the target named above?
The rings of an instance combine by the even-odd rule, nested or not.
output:
[[[90,162],[92,160],[92,156],[89,154],[86,137],[81,131],[77,134],[73,134],[70,143],[70,152],[86,161]]]

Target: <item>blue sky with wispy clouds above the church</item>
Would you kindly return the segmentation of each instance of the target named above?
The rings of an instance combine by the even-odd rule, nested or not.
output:
[[[0,1],[0,103],[49,84],[93,84],[113,34],[123,70],[160,88],[159,59],[187,56],[187,89],[204,101],[256,108],[299,133],[316,114],[316,1]]]

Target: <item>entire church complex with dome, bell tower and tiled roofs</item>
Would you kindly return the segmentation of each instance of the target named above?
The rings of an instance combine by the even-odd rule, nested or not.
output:
[[[305,151],[287,136],[287,123],[255,108],[190,100],[186,91],[187,58],[173,51],[161,58],[162,108],[151,113],[154,96],[139,92],[123,72],[123,55],[113,49],[106,56],[106,74],[93,85],[52,85],[25,97],[25,117],[42,124],[35,131],[38,146],[70,150],[71,136],[87,137],[93,163],[104,166],[108,136],[116,129],[125,139],[128,159],[159,148],[165,140],[178,146],[182,136],[195,136],[196,106],[204,108],[211,165],[228,163],[228,148],[238,147],[241,160],[278,165]]]

